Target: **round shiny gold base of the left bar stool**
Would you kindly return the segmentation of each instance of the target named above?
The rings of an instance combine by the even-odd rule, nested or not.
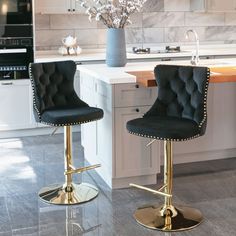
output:
[[[57,205],[74,205],[88,202],[98,195],[98,189],[87,183],[72,184],[70,191],[66,191],[65,185],[52,185],[39,191],[41,200]]]

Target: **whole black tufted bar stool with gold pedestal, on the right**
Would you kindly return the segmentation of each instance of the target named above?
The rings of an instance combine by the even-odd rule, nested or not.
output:
[[[142,207],[134,216],[148,228],[181,231],[197,226],[202,215],[196,209],[172,205],[172,141],[186,141],[205,133],[210,71],[206,67],[158,65],[154,75],[158,97],[142,118],[127,122],[127,130],[134,135],[164,140],[164,185],[156,193],[165,196],[165,203],[160,207]]]

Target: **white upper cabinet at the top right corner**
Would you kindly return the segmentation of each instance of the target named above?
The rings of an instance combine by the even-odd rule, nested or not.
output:
[[[236,0],[191,0],[193,11],[230,12],[236,10]]]

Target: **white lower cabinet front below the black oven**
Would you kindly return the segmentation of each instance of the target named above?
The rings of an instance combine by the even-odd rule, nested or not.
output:
[[[0,81],[0,130],[35,127],[29,80]]]

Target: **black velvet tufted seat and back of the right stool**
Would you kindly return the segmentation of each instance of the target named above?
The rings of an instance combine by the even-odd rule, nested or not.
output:
[[[142,118],[127,122],[130,133],[183,141],[201,136],[207,124],[207,67],[157,65],[158,97]]]

